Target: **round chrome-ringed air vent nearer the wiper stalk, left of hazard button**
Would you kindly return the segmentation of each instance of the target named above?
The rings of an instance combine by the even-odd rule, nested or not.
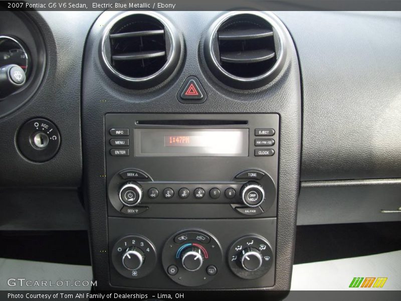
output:
[[[106,28],[101,48],[109,75],[137,89],[167,79],[177,66],[181,49],[173,26],[151,12],[119,15]]]

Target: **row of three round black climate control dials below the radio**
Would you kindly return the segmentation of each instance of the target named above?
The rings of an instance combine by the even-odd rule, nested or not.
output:
[[[147,237],[132,234],[115,242],[111,259],[113,268],[125,278],[151,276],[161,268],[170,281],[188,287],[205,286],[227,278],[228,273],[236,279],[254,280],[266,275],[273,266],[272,246],[261,235],[237,237],[227,245],[227,250],[225,244],[209,231],[189,228],[172,234],[156,251]],[[157,252],[161,255],[157,256]]]

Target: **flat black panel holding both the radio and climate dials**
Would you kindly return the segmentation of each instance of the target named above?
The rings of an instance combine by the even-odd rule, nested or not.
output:
[[[111,283],[273,285],[279,125],[278,114],[106,114]]]

